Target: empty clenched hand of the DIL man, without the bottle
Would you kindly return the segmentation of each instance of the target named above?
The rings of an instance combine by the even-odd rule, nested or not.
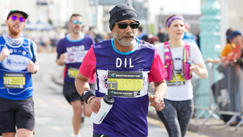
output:
[[[161,111],[165,107],[164,99],[160,96],[150,95],[149,102],[157,111]]]

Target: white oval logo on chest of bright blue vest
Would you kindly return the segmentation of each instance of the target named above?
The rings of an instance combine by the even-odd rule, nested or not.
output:
[[[9,70],[25,70],[28,58],[19,55],[10,55],[2,62],[3,67]]]

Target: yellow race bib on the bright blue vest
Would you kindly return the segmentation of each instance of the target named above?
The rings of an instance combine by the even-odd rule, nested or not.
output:
[[[24,88],[25,76],[21,73],[4,73],[3,83],[5,88]]]

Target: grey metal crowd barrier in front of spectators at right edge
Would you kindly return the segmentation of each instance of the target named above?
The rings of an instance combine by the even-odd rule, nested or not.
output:
[[[228,115],[225,127],[238,117],[239,121],[235,126],[237,130],[243,124],[243,69],[238,65],[218,66],[218,71],[224,74],[224,77],[216,82],[213,82],[213,68],[214,64],[209,63],[209,85],[211,86],[209,106],[199,107],[195,109],[200,110],[196,116],[196,120],[207,113],[202,124],[204,125],[210,118],[220,119],[220,115]]]

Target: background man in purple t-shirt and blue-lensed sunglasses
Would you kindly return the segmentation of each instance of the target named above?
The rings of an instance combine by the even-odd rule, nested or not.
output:
[[[88,110],[86,104],[82,103],[80,95],[77,93],[74,79],[79,72],[79,67],[83,57],[94,44],[94,40],[83,33],[83,17],[80,14],[72,14],[69,20],[70,33],[62,38],[57,45],[57,64],[65,65],[63,95],[73,108],[73,131],[75,137],[79,137],[83,113],[90,116],[91,110]],[[90,81],[94,83],[93,81]],[[94,84],[91,84],[94,87]]]

